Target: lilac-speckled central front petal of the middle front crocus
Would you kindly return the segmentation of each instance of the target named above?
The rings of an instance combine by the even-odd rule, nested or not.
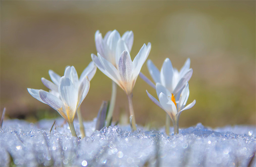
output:
[[[127,51],[123,51],[118,63],[118,70],[122,80],[126,82],[133,82],[131,80],[133,72],[133,62]]]

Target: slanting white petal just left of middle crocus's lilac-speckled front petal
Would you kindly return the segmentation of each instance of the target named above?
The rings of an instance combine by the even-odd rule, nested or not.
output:
[[[109,73],[109,75],[111,75],[116,81],[120,81],[120,75],[118,70],[115,68],[114,65],[112,65],[109,61],[107,61],[106,59],[104,59],[104,57],[102,57],[99,53],[98,53],[98,57],[99,60],[101,62],[101,64],[104,66],[105,70]],[[107,75],[108,76],[108,75]],[[108,76],[109,77],[109,76]],[[111,78],[111,77],[110,77]],[[115,81],[114,80],[114,81]]]

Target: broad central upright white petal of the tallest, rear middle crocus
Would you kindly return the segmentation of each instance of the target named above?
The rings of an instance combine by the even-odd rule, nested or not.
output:
[[[120,34],[118,31],[114,30],[111,32],[109,37],[107,38],[107,47],[109,48],[109,58],[107,59],[110,62],[114,63],[115,62],[115,50],[117,47],[117,42],[120,39]]]

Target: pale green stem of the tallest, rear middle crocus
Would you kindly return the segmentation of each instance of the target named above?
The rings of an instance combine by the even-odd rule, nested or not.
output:
[[[110,126],[110,124],[111,124],[110,121],[111,121],[111,118],[112,118],[112,115],[114,112],[114,108],[115,108],[116,88],[117,88],[116,83],[114,81],[112,81],[112,93],[111,93],[109,110],[107,112],[106,126]]]

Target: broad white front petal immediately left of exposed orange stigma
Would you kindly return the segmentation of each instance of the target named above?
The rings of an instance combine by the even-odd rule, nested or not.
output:
[[[169,114],[170,116],[171,116],[171,113],[173,113],[174,115],[177,114],[177,108],[174,102],[172,102],[171,97],[167,97],[164,93],[161,92],[159,95],[159,101],[162,107],[167,112],[167,114]]]

